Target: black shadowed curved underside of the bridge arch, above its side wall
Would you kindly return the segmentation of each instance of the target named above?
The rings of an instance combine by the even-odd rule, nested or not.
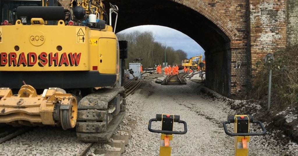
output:
[[[105,0],[119,8],[116,32],[140,25],[176,29],[195,40],[205,51],[229,43],[229,37],[200,13],[169,0]],[[107,10],[108,12],[108,10]]]

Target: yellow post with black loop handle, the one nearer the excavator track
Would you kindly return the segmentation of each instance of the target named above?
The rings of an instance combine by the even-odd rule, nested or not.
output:
[[[162,130],[153,130],[151,129],[152,121],[161,121]],[[183,123],[184,131],[173,131],[174,122]],[[179,115],[172,114],[156,114],[155,119],[150,119],[148,123],[148,130],[153,133],[161,133],[160,135],[160,156],[170,156],[172,150],[172,140],[173,134],[186,134],[187,133],[187,124],[185,121],[180,120]]]

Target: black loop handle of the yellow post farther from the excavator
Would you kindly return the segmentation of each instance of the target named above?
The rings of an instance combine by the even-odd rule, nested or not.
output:
[[[265,135],[266,134],[266,130],[264,125],[262,124],[262,122],[253,119],[252,116],[248,116],[249,117],[249,121],[251,121],[251,123],[257,123],[260,125],[260,127],[262,128],[262,132],[258,132],[258,133],[230,133],[227,128],[226,128],[226,124],[230,124],[230,123],[234,123],[235,119],[234,116],[228,116],[228,121],[224,121],[223,126],[224,126],[224,132],[227,135],[230,136],[249,136],[249,135]]]

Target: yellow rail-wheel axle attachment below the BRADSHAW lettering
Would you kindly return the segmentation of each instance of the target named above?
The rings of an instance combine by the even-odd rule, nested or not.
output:
[[[58,105],[60,108],[56,107]],[[45,89],[43,94],[37,95],[32,86],[23,85],[17,96],[9,88],[0,88],[0,110],[0,123],[13,126],[60,125],[64,122],[62,127],[73,128],[77,120],[76,98],[59,88]],[[67,117],[62,118],[61,112],[65,110],[62,115]]]

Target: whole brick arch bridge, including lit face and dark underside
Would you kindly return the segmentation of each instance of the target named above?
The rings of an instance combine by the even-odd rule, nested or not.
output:
[[[206,86],[231,98],[250,91],[257,61],[298,42],[297,0],[104,0],[107,12],[109,2],[119,7],[117,32],[160,25],[195,40],[205,50]]]

